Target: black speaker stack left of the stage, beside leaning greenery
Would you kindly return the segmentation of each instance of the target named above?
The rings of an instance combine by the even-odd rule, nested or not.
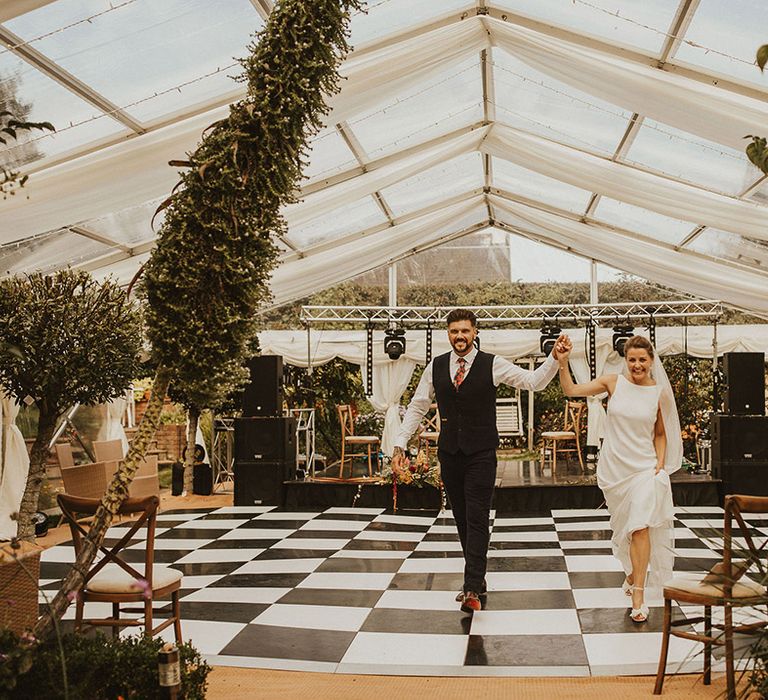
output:
[[[296,419],[282,415],[283,358],[248,362],[243,417],[235,419],[235,505],[281,506],[284,482],[296,473]]]

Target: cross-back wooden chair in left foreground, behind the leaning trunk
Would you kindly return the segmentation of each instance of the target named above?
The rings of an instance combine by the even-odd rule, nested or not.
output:
[[[79,516],[93,516],[99,506],[99,500],[93,498],[76,498],[59,494],[59,507],[69,524],[75,547],[75,556],[80,554],[83,538],[88,531],[78,520]],[[129,522],[128,531],[119,542],[112,545],[102,545],[99,551],[104,555],[99,559],[85,576],[82,589],[78,592],[75,608],[75,630],[83,624],[92,626],[107,626],[112,628],[112,636],[117,637],[121,627],[144,627],[144,634],[152,637],[166,627],[173,625],[176,642],[181,643],[181,615],[179,606],[179,590],[182,574],[177,569],[165,566],[155,566],[155,523],[160,499],[157,496],[148,498],[129,498],[123,502],[118,511],[121,515],[134,516],[138,519]],[[146,528],[143,565],[134,566],[126,561],[123,548],[136,537],[136,533]],[[140,536],[139,536],[140,537]],[[171,617],[153,627],[152,602],[158,598],[171,596]],[[84,617],[85,603],[112,603],[112,616],[107,618]],[[140,603],[140,608],[122,608],[122,605]],[[143,612],[144,618],[121,618],[121,612]]]

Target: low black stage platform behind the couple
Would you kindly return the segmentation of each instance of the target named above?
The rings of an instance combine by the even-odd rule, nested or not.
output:
[[[356,465],[355,474],[362,474]],[[338,474],[338,466],[327,470]],[[360,480],[289,481],[285,484],[285,507],[306,508],[392,508],[392,486]],[[710,474],[679,471],[672,475],[672,495],[677,506],[716,506],[720,504],[719,479]],[[578,463],[558,464],[557,472],[544,469],[535,460],[514,459],[500,453],[493,507],[511,513],[548,513],[553,509],[599,508],[603,494],[594,470],[583,473]],[[398,510],[439,509],[440,492],[429,486],[398,486]]]

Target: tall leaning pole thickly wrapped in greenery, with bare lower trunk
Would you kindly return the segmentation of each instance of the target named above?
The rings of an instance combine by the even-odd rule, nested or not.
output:
[[[213,124],[189,155],[180,187],[164,203],[158,245],[145,270],[146,319],[158,370],[131,449],[94,517],[80,557],[35,632],[44,636],[83,583],[154,436],[170,382],[197,410],[243,378],[256,312],[277,264],[272,237],[293,201],[307,140],[338,91],[349,50],[350,12],[360,0],[282,0],[241,61],[247,96]],[[194,450],[187,450],[191,459]]]

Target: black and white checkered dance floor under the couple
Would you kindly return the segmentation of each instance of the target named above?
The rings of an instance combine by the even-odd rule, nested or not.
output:
[[[660,592],[646,592],[649,622],[633,624],[605,510],[492,516],[488,603],[474,616],[454,600],[463,559],[450,512],[174,510],[159,515],[156,559],[183,572],[183,634],[212,664],[397,675],[655,672]],[[712,506],[676,509],[677,571],[700,572],[719,558],[722,518]],[[752,523],[768,528],[768,520]],[[118,523],[110,537],[122,531]],[[130,548],[141,560],[143,543]],[[70,544],[43,553],[41,596],[55,591],[72,558]],[[101,614],[105,604],[89,605]],[[159,616],[164,606],[158,601]],[[673,638],[669,670],[699,672],[700,652]]]

